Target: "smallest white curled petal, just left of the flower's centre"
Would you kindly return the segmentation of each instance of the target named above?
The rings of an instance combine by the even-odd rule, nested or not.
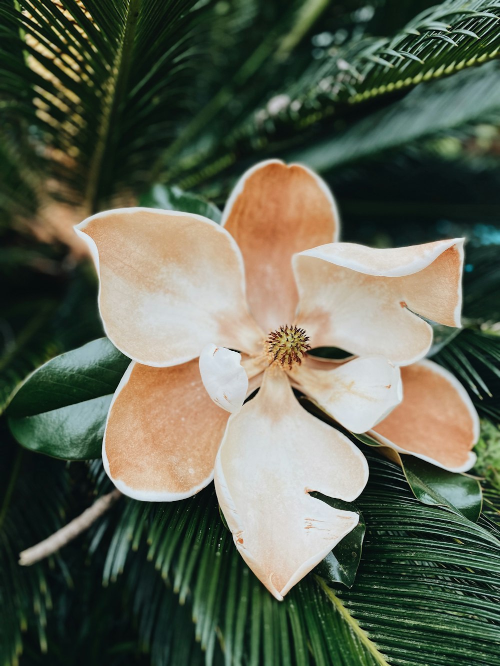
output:
[[[241,409],[248,391],[241,354],[207,344],[199,357],[199,371],[203,386],[215,404],[233,414]]]

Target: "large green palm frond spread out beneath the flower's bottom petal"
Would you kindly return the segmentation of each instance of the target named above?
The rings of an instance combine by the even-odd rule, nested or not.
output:
[[[174,505],[126,501],[104,580],[126,572],[146,542],[147,559],[190,605],[207,663],[219,634],[234,664],[437,666],[459,655],[493,665],[500,551],[487,523],[420,505],[399,468],[367,456],[371,482],[359,505],[368,531],[349,590],[313,574],[275,602],[233,548],[210,489]]]

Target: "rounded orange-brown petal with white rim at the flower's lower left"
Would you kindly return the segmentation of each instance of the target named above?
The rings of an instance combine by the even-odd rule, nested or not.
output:
[[[213,479],[228,417],[205,391],[197,359],[173,368],[133,361],[109,410],[105,470],[135,500],[191,497]]]

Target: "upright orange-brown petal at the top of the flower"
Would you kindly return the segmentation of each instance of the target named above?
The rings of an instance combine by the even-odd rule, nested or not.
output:
[[[339,214],[325,182],[301,165],[271,160],[248,170],[233,190],[222,224],[245,260],[251,312],[265,331],[291,323],[297,287],[291,258],[337,240]]]

